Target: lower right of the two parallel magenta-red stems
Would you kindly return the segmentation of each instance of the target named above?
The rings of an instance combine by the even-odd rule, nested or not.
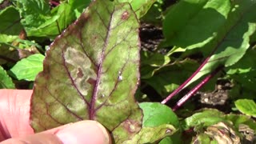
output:
[[[215,74],[218,73],[219,70],[222,70],[222,66],[217,67],[211,74],[209,74],[206,78],[204,78],[197,86],[195,86],[190,92],[188,92],[183,98],[181,98],[173,110],[177,110],[180,106],[182,106],[190,97],[192,97],[202,86],[204,86],[207,82],[210,81],[210,78],[213,78]]]

